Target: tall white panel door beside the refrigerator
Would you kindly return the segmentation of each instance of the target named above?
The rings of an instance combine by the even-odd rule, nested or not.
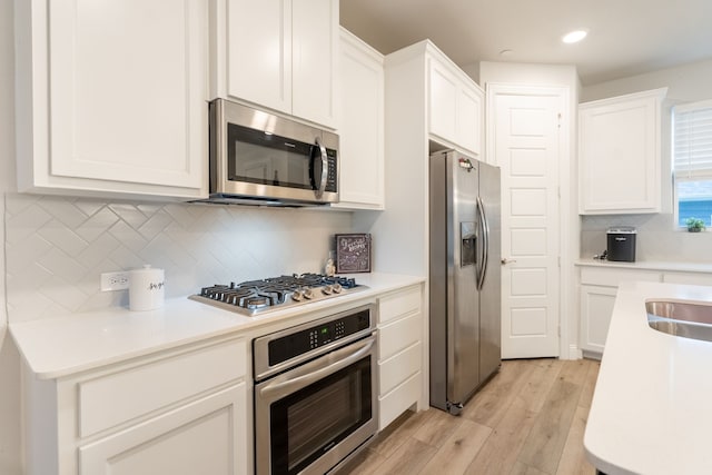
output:
[[[493,96],[502,168],[502,357],[558,356],[558,117],[563,97]]]

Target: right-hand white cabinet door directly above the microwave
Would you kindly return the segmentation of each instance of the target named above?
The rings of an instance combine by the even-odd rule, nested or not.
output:
[[[291,113],[336,127],[338,0],[293,0]]]

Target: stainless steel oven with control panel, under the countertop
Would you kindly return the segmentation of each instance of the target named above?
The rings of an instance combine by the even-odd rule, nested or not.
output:
[[[253,342],[257,474],[325,474],[376,434],[375,306]]]

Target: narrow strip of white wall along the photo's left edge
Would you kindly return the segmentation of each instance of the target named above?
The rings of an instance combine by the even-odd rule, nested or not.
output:
[[[14,190],[14,48],[12,0],[0,0],[0,236],[4,194]],[[4,239],[0,239],[0,474],[21,473],[19,356],[6,334]]]

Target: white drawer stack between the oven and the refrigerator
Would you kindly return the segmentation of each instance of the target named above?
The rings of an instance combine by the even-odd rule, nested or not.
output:
[[[423,291],[419,285],[378,299],[378,429],[421,402]]]

